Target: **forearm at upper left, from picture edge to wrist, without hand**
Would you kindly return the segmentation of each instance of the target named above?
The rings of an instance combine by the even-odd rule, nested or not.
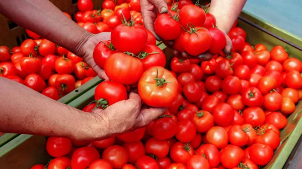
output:
[[[91,35],[48,0],[0,0],[0,13],[77,55],[81,42]]]

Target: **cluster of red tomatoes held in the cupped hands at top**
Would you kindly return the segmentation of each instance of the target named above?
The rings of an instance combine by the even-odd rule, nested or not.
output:
[[[173,48],[197,56],[204,52],[216,54],[226,45],[222,31],[215,28],[216,19],[208,11],[208,6],[179,3],[169,6],[168,13],[158,15],[155,32],[164,41],[174,41]]]

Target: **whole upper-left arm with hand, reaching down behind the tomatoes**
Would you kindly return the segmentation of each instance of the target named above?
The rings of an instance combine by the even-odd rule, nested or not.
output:
[[[66,17],[48,0],[0,0],[0,13],[38,35],[84,58],[103,79],[105,71],[93,60],[94,47],[102,40],[110,40],[110,33],[91,34]]]

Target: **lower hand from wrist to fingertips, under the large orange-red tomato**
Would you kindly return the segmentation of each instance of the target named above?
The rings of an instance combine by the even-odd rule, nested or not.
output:
[[[165,113],[166,110],[167,108],[142,106],[139,95],[130,93],[128,100],[117,102],[105,110],[93,111],[96,123],[103,124],[99,125],[94,139],[100,140],[100,138],[116,136],[145,126]]]

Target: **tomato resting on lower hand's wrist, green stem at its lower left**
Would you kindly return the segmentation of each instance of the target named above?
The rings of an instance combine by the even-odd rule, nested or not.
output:
[[[106,108],[116,102],[127,99],[126,88],[114,81],[103,81],[95,90],[95,100],[98,101],[97,107],[102,106],[102,108]]]

